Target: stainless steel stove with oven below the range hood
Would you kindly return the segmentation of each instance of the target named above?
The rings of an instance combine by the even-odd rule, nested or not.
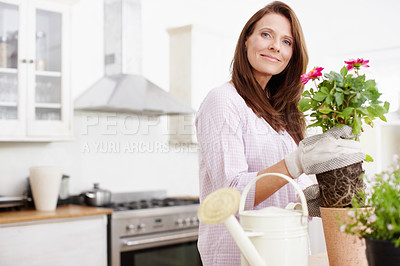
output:
[[[199,200],[165,191],[113,193],[111,265],[201,265]],[[173,262],[173,263],[172,263]]]

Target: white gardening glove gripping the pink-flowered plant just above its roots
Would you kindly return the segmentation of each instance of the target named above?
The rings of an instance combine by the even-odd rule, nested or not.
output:
[[[285,157],[290,175],[297,178],[302,173],[320,174],[362,162],[365,153],[361,151],[361,144],[346,139],[354,137],[353,129],[345,125],[303,139],[297,150]]]

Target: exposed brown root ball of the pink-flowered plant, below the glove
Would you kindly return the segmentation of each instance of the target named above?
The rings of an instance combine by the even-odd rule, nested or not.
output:
[[[351,205],[352,198],[364,190],[362,162],[317,174],[316,178],[322,206],[343,208]]]

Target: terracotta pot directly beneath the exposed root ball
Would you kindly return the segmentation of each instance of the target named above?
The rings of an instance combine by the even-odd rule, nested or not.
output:
[[[348,209],[320,208],[325,244],[330,266],[367,266],[365,241],[357,236],[341,232],[341,221],[345,221]]]

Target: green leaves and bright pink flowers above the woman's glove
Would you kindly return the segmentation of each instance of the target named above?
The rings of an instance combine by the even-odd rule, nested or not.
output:
[[[358,136],[363,131],[363,123],[373,127],[373,120],[377,117],[386,121],[389,103],[379,101],[381,93],[375,80],[366,80],[365,74],[359,73],[361,66],[369,67],[368,62],[364,59],[345,61],[346,66],[340,73],[331,71],[322,81],[322,67],[301,76],[303,84],[312,80],[317,88],[304,91],[298,106],[301,112],[309,112],[303,115],[311,117],[312,124],[308,127],[321,127],[325,132],[332,127],[348,125]],[[351,70],[354,74],[350,73]]]

